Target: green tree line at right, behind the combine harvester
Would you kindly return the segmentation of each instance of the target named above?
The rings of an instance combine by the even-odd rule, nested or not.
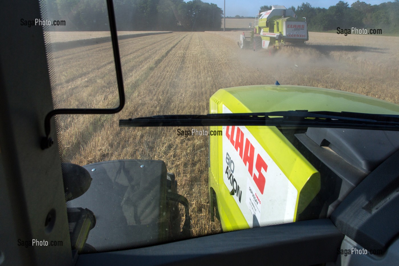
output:
[[[261,6],[260,10],[270,10],[271,6]],[[381,4],[367,4],[356,1],[339,1],[329,8],[312,7],[308,2],[298,7],[291,6],[295,14],[308,22],[309,31],[336,30],[347,28],[380,28],[383,33],[399,33],[399,0]]]

